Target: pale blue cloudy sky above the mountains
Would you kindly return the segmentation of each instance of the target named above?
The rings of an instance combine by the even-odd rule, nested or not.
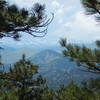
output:
[[[100,26],[94,16],[85,15],[80,0],[7,0],[10,4],[16,4],[20,8],[30,8],[34,3],[39,2],[46,5],[48,17],[54,13],[54,19],[49,25],[48,33],[43,38],[34,38],[30,35],[23,35],[19,42],[11,38],[0,40],[7,45],[34,45],[54,46],[59,45],[61,38],[67,38],[72,43],[92,43],[100,39]]]

